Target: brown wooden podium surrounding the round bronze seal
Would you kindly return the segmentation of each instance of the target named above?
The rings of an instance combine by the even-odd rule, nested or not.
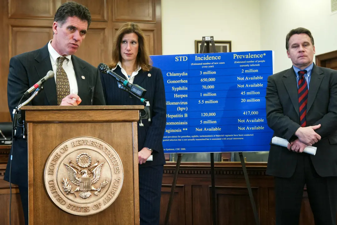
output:
[[[28,139],[29,224],[140,224],[137,121],[140,119],[139,110],[141,109],[144,109],[144,107],[25,106],[22,108]],[[55,201],[53,202],[51,200],[52,197],[48,194],[49,187],[45,185],[45,173],[48,172],[48,169],[45,171],[45,168],[48,167],[47,160],[50,158],[50,155],[58,146],[62,145],[63,142],[78,137],[93,137],[110,145],[120,158],[124,175],[122,187],[115,201],[104,210],[86,216],[74,215],[58,207],[57,202],[55,203]],[[75,142],[75,144],[76,143],[81,143],[81,141]],[[84,141],[82,141],[82,144],[83,143]],[[86,144],[89,145],[90,141]],[[108,149],[102,147],[100,144],[94,144],[94,142],[91,144],[92,146],[96,145],[97,149]],[[63,153],[64,151],[61,152]],[[56,154],[56,156],[58,155],[59,154]],[[111,154],[109,157],[111,157]],[[56,157],[55,159],[57,160],[58,158]],[[76,164],[76,162],[75,158],[72,163]],[[68,162],[63,162],[62,166],[67,163]],[[93,157],[92,165],[94,163],[95,159]],[[81,166],[83,164],[78,165]],[[108,164],[106,163],[105,166],[108,166]],[[119,167],[115,166],[114,169],[112,168],[112,171],[117,173],[118,168]],[[61,171],[61,169],[55,168],[55,173],[58,171]],[[85,172],[81,174],[83,175],[84,173]],[[114,190],[112,188],[114,184],[113,181],[113,179],[110,180],[111,190]],[[53,183],[54,181],[50,182]],[[56,180],[55,182],[59,181]],[[118,185],[118,183],[116,185]],[[97,188],[98,186],[99,182],[97,182],[95,187]],[[59,202],[62,203],[63,200],[67,200],[70,196],[78,196],[79,192],[66,195],[60,187],[61,185],[59,185],[59,189],[56,189],[59,195],[55,195],[57,196],[55,199]],[[95,195],[92,194],[91,198],[88,198],[88,201],[92,202],[94,198]],[[84,200],[78,196],[76,197],[76,201]],[[109,201],[109,197],[105,200],[104,204],[107,201]],[[103,200],[99,205],[103,206],[102,202]],[[65,204],[65,206],[67,205],[69,204]],[[99,208],[99,206],[90,206],[91,208],[88,206],[87,209],[83,209],[83,207],[77,208],[77,206],[76,208],[74,208],[75,206],[71,207],[75,213],[88,212],[88,210],[90,210],[90,213],[93,213],[94,210]]]

